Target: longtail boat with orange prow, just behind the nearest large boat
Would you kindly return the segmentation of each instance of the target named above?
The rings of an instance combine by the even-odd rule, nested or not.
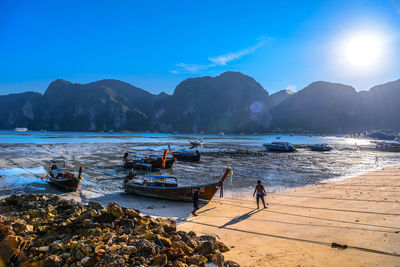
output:
[[[168,151],[164,149],[164,155],[137,156],[133,152],[127,151],[123,157],[123,166],[127,169],[143,171],[159,171],[169,169],[175,163],[174,157],[167,157]]]

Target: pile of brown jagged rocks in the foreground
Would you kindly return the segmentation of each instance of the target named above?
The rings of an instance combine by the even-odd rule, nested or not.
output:
[[[0,259],[6,266],[239,266],[214,236],[176,230],[169,218],[51,194],[0,202]]]

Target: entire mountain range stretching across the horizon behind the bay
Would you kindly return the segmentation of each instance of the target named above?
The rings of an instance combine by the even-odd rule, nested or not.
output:
[[[0,129],[350,133],[400,130],[400,79],[357,92],[313,82],[298,92],[268,92],[252,77],[224,72],[182,81],[172,95],[119,80],[55,80],[44,94],[0,96]]]

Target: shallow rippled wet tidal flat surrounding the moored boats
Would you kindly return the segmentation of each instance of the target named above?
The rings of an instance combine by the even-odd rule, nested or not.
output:
[[[124,177],[129,172],[122,168],[122,156],[125,151],[135,151],[139,155],[161,154],[161,148],[166,147],[166,144],[160,147],[157,142],[84,143],[86,139],[80,141],[82,143],[0,144],[0,175],[10,189],[7,190],[7,186],[0,182],[0,194],[10,194],[8,191],[29,193],[47,190],[45,186],[35,182],[37,179],[30,179],[30,173],[16,170],[18,166],[8,159],[41,176],[45,175],[46,171],[43,168],[48,168],[49,160],[64,159],[70,168],[78,170],[80,166],[84,167],[83,173],[87,177],[82,181],[82,188],[114,193],[122,191],[122,180],[118,180],[118,177]],[[173,141],[167,144],[176,150],[187,148],[180,146],[176,140]],[[221,141],[207,144],[199,150],[202,152],[200,162],[177,162],[172,169],[161,173],[176,175],[181,184],[203,184],[220,179],[225,168],[231,166],[234,170],[234,181],[233,185],[226,185],[226,190],[246,190],[253,185],[255,179],[261,179],[268,190],[281,190],[373,170],[376,168],[377,156],[381,166],[393,165],[400,160],[399,153],[377,151],[374,144],[365,146],[363,150],[336,144],[330,152],[299,149],[295,153],[271,153],[262,146],[227,146]],[[41,171],[37,169],[39,167],[42,168]]]

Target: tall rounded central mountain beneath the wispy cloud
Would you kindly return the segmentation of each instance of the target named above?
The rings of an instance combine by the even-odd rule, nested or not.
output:
[[[254,132],[270,124],[272,99],[253,78],[239,72],[190,78],[156,105],[161,131]]]

